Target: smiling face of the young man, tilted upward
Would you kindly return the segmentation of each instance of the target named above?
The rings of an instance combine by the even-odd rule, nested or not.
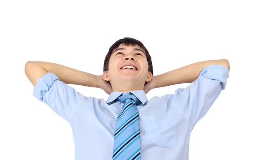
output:
[[[148,61],[144,51],[138,46],[120,44],[109,60],[108,71],[105,71],[105,80],[113,83],[130,80],[144,86],[152,78],[148,71]]]

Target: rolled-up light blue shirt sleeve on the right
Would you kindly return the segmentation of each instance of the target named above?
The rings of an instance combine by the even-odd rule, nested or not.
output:
[[[180,107],[191,127],[207,113],[225,89],[228,77],[227,67],[210,65],[202,69],[198,79],[189,87],[175,91],[174,102]]]

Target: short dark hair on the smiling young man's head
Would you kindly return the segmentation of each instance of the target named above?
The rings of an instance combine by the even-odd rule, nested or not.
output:
[[[137,45],[139,45],[139,47],[141,47],[141,49],[143,49],[145,51],[146,58],[147,58],[147,61],[148,61],[148,71],[150,71],[153,75],[153,65],[152,65],[151,56],[149,55],[148,50],[146,49],[144,44],[142,44],[139,40],[136,40],[134,38],[129,38],[129,37],[117,40],[114,44],[112,44],[112,46],[109,48],[108,54],[105,57],[104,65],[103,65],[103,71],[108,71],[110,56],[112,55],[113,51],[115,49],[117,49],[118,46],[122,43],[124,45],[127,45],[127,46],[129,46],[129,45],[134,46],[134,45],[137,44]]]

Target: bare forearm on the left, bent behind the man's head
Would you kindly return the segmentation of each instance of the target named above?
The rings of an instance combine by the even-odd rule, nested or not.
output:
[[[26,76],[34,86],[36,85],[37,79],[48,72],[54,73],[66,84],[97,87],[103,89],[108,94],[112,92],[110,83],[103,80],[102,76],[96,76],[51,62],[28,61],[25,65]]]

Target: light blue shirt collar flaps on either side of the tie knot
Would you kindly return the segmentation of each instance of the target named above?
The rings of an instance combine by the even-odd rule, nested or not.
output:
[[[110,93],[110,96],[107,99],[107,103],[111,104],[114,100],[116,100],[123,92],[114,91]],[[148,101],[148,98],[146,97],[146,94],[143,90],[138,91],[130,91],[130,93],[134,94],[142,104],[145,104]]]

